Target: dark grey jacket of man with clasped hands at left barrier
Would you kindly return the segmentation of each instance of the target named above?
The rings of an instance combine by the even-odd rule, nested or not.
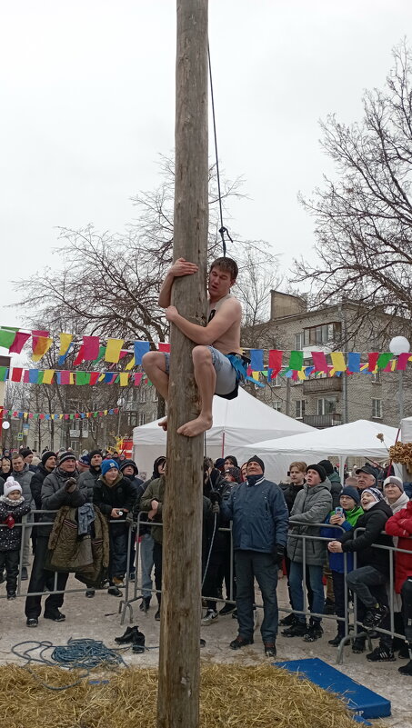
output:
[[[59,468],[55,468],[53,473],[45,476],[42,485],[42,508],[44,511],[58,511],[62,505],[69,505],[71,508],[78,508],[79,505],[87,503],[87,484],[78,484],[73,493],[65,490],[65,484],[69,478],[75,478],[78,481],[78,473],[65,473]],[[41,514],[42,523],[52,524],[55,520],[55,514]],[[38,534],[40,536],[48,536],[51,532],[51,526],[39,526]]]

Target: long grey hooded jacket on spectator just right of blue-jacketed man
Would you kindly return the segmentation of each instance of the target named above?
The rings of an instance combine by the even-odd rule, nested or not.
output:
[[[291,528],[287,537],[287,555],[291,561],[303,563],[303,539],[296,538],[297,534],[318,536],[319,527],[311,524],[322,524],[331,508],[330,484],[326,481],[311,488],[306,483],[299,491],[289,516],[289,526]],[[313,539],[306,539],[305,541],[306,563],[309,566],[321,566],[325,563],[327,542]]]

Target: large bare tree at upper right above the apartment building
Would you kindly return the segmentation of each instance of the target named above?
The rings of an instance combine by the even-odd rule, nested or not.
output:
[[[412,55],[405,42],[393,58],[384,89],[364,95],[361,122],[345,125],[332,115],[321,125],[337,178],[325,176],[311,199],[301,198],[316,221],[318,260],[296,261],[294,275],[311,282],[312,304],[357,301],[364,318],[386,312],[405,324],[412,314]]]

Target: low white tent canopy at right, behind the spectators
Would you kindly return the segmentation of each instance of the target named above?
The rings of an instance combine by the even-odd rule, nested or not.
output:
[[[380,433],[384,435],[383,443],[377,438]],[[388,460],[388,448],[395,444],[396,438],[396,427],[357,420],[294,437],[250,444],[242,449],[242,453],[248,457],[259,455],[265,462],[268,477],[279,482],[285,479],[293,460],[313,464],[328,458],[333,464],[338,463],[341,470],[347,456],[356,457],[358,464],[364,464],[367,458],[373,461]]]

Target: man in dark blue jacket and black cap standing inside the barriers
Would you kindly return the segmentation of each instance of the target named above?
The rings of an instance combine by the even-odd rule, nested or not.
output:
[[[285,554],[288,512],[281,489],[266,480],[264,472],[264,462],[253,455],[247,461],[246,481],[234,485],[227,501],[214,493],[209,497],[212,502],[220,501],[221,514],[233,521],[239,632],[230,646],[232,650],[238,650],[253,643],[256,577],[263,598],[264,618],[260,631],[265,654],[275,657],[277,570]]]

